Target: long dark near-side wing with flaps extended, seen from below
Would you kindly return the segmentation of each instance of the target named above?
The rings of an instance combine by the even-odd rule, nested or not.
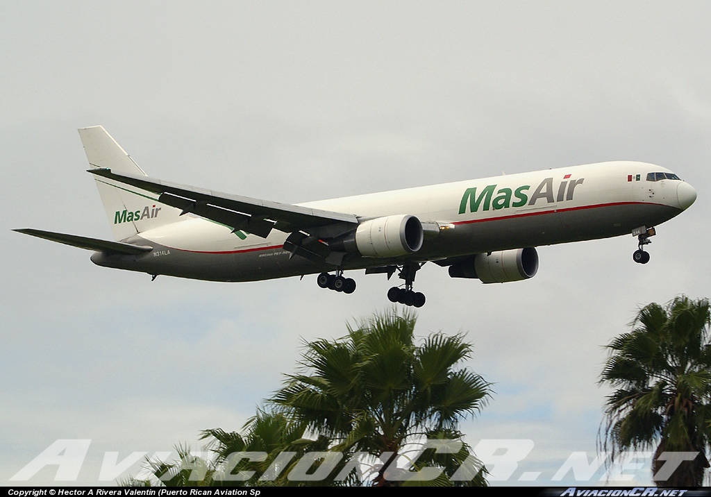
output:
[[[358,218],[353,214],[262,201],[257,198],[168,183],[148,176],[114,173],[108,168],[89,169],[88,172],[157,193],[159,202],[180,208],[183,213],[193,213],[228,225],[234,231],[242,230],[263,238],[269,235],[272,228],[292,233],[301,230],[309,232],[314,228],[343,223],[353,225],[354,228],[358,225]]]

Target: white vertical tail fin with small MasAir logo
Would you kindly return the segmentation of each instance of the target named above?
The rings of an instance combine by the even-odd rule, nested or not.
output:
[[[146,176],[143,169],[101,126],[80,128],[84,151],[92,168],[109,168],[117,173]],[[154,193],[95,176],[114,238],[125,240],[151,228],[174,223],[180,210],[158,202]]]

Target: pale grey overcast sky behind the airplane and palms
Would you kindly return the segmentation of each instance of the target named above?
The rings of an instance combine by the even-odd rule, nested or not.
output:
[[[82,483],[107,451],[199,449],[201,429],[242,427],[304,340],[388,308],[384,275],[348,274],[351,296],[314,276],[151,282],[11,232],[111,238],[76,132],[97,124],[151,176],[290,203],[616,159],[689,181],[696,203],[644,266],[629,235],[539,247],[525,282],[417,274],[419,335],[465,331],[494,383],[469,444],[533,440],[492,483],[592,461],[603,346],[640,306],[711,296],[710,21],[707,1],[5,1],[0,484],[57,439],[92,440]],[[627,474],[648,482],[648,464]]]

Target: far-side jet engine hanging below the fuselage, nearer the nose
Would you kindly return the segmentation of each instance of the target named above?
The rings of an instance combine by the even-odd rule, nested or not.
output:
[[[482,283],[518,282],[533,278],[538,272],[538,252],[527,247],[477,254],[449,266],[453,278],[479,278]]]

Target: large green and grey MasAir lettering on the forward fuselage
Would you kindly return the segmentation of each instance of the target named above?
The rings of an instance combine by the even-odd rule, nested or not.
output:
[[[500,188],[496,192],[496,197],[493,198],[493,201],[491,197],[493,196],[494,190],[496,190],[496,184],[482,188],[479,196],[476,196],[476,186],[474,188],[466,188],[464,195],[461,196],[461,202],[459,203],[459,213],[466,213],[467,200],[469,200],[469,212],[471,213],[475,213],[479,210],[479,206],[481,206],[481,210],[489,210],[491,207],[493,207],[494,210],[498,210],[506,209],[511,206],[523,207],[526,203],[528,203],[528,205],[535,205],[539,198],[545,198],[547,203],[572,201],[575,187],[582,184],[585,178],[569,180],[570,174],[563,176],[563,181],[558,185],[557,195],[555,196],[553,178],[545,178],[540,182],[540,185],[538,185],[530,198],[528,198],[528,194],[525,193],[530,190],[530,185],[523,185],[513,191],[511,188]],[[512,203],[511,199],[514,197],[515,201]]]

